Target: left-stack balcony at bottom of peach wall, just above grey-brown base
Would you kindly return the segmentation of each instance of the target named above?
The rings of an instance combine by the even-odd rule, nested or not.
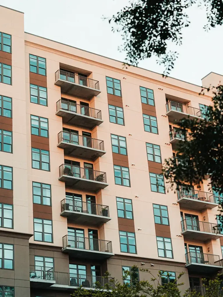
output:
[[[63,236],[62,252],[77,258],[107,259],[112,257],[111,241],[96,238],[79,237],[72,235]]]

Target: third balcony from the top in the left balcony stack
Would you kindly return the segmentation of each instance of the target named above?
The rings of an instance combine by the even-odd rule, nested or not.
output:
[[[90,160],[95,160],[106,153],[103,140],[63,131],[58,133],[57,146],[64,149],[65,155],[84,157]]]

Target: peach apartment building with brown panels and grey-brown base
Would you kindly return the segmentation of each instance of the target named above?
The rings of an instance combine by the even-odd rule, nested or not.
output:
[[[133,265],[165,271],[160,282],[183,271],[182,292],[199,290],[222,269],[222,197],[209,176],[171,191],[162,163],[184,141],[174,120],[204,118],[211,93],[24,33],[22,12],[0,15],[1,296],[70,296]]]

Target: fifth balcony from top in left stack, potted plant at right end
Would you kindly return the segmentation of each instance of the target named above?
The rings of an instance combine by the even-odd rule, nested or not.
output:
[[[60,215],[67,217],[68,222],[81,225],[99,226],[111,219],[108,206],[67,198],[61,201]]]

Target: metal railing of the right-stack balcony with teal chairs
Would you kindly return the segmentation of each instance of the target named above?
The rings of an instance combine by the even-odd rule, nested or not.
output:
[[[180,188],[178,190],[178,197],[180,198],[189,198],[199,201],[216,203],[215,195],[209,192],[202,192],[194,189],[185,189]]]

